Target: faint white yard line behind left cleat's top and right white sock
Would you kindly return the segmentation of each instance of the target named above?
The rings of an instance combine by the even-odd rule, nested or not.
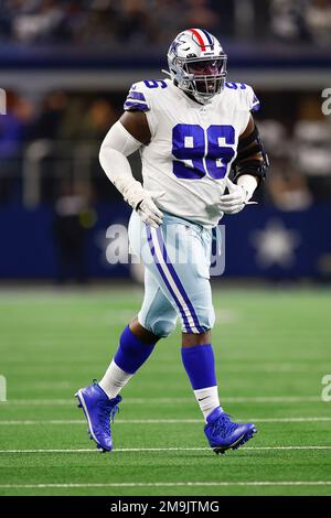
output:
[[[225,403],[300,403],[300,402],[321,402],[319,396],[252,396],[252,397],[225,397],[222,398]],[[12,399],[1,402],[3,406],[38,407],[38,406],[66,406],[73,404],[74,399]],[[135,404],[195,404],[193,398],[126,398],[127,403]]]

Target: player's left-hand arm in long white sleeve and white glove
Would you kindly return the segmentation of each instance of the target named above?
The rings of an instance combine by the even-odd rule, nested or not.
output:
[[[147,144],[150,137],[145,114],[125,112],[106,134],[100,147],[99,161],[110,182],[122,194],[125,201],[138,212],[141,219],[158,227],[162,223],[162,213],[151,195],[134,177],[127,159],[141,145]]]

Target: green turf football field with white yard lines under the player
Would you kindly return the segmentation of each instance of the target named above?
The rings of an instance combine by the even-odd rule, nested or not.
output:
[[[122,390],[100,454],[73,396],[102,377],[141,296],[2,290],[0,495],[331,495],[330,289],[214,288],[221,402],[258,429],[241,450],[207,446],[178,328]]]

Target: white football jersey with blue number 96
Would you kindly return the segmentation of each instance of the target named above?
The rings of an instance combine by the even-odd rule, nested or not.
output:
[[[227,83],[200,105],[170,79],[131,86],[126,110],[146,114],[151,141],[140,149],[143,187],[161,211],[211,228],[239,136],[259,102],[250,86]]]

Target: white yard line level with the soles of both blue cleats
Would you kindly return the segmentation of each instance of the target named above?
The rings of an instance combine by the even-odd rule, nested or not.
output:
[[[256,451],[269,451],[269,450],[275,450],[275,451],[296,451],[296,450],[331,450],[331,445],[327,446],[243,446],[242,450],[254,450]],[[180,446],[173,446],[173,447],[117,447],[111,453],[125,453],[125,452],[203,452],[203,451],[209,451],[211,452],[210,447],[180,447]],[[1,453],[97,453],[99,452],[96,449],[87,449],[87,447],[81,447],[81,449],[47,449],[47,450],[0,450]]]

